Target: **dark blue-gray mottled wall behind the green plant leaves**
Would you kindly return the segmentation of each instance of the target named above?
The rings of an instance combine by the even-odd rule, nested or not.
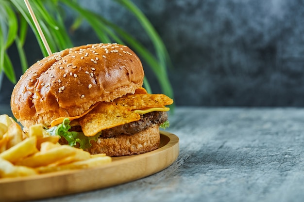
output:
[[[133,1],[168,48],[176,105],[304,106],[303,0]],[[153,50],[134,17],[116,3],[81,3]],[[67,24],[73,15],[68,13]],[[71,37],[75,46],[99,43],[86,24]],[[26,50],[29,64],[42,57],[31,33]],[[9,54],[16,55],[18,66],[16,48]],[[153,93],[159,93],[152,73],[145,72]],[[9,103],[13,85],[4,82],[0,103]]]

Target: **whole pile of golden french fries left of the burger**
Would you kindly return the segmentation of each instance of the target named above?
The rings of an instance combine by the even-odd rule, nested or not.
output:
[[[8,115],[0,115],[0,178],[95,167],[111,162],[105,154],[60,145],[41,124],[27,133]]]

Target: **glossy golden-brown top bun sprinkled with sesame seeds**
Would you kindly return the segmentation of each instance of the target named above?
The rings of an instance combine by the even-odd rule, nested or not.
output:
[[[34,63],[17,82],[11,109],[25,130],[51,126],[59,117],[84,114],[97,102],[110,102],[142,86],[136,54],[118,44],[92,44],[54,53]]]

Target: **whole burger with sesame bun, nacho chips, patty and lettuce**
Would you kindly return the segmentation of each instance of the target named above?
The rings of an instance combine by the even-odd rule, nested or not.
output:
[[[11,96],[23,130],[42,124],[61,144],[91,154],[134,155],[155,150],[160,127],[169,125],[173,100],[142,87],[142,63],[129,48],[91,44],[34,63]]]

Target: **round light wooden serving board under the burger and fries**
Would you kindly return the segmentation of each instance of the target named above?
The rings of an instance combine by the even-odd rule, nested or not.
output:
[[[157,150],[113,157],[96,168],[0,179],[0,202],[26,201],[79,193],[137,180],[169,167],[179,155],[179,139],[161,131]]]

